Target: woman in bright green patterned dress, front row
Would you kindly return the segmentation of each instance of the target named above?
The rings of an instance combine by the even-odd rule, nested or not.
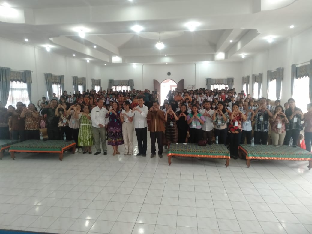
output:
[[[86,154],[88,150],[89,154],[92,154],[91,148],[93,145],[93,132],[90,106],[85,105],[81,114],[78,146],[85,147],[83,154]]]

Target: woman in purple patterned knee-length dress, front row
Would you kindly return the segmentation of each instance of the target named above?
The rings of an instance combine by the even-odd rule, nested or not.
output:
[[[107,124],[107,137],[108,145],[112,145],[114,149],[113,155],[120,154],[118,151],[118,146],[124,144],[124,139],[122,136],[122,123],[120,120],[121,110],[117,101],[113,102],[112,108],[106,114],[106,118],[109,118]]]

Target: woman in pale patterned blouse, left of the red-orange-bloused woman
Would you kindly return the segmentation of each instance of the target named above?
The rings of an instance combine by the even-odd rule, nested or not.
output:
[[[213,113],[211,120],[214,122],[215,137],[218,136],[219,144],[225,144],[227,141],[227,123],[230,116],[225,109],[222,101],[218,102],[217,110]]]

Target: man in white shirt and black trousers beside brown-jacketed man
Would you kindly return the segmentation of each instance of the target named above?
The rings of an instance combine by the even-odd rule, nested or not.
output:
[[[138,139],[139,154],[137,156],[146,157],[147,150],[147,113],[149,108],[144,105],[144,98],[142,95],[138,97],[139,105],[134,107],[132,113],[134,114],[134,128]]]

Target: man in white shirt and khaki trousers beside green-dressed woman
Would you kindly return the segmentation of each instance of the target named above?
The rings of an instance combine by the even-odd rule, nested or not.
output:
[[[108,118],[105,118],[107,114],[106,108],[103,107],[104,100],[99,98],[97,100],[98,105],[92,109],[91,111],[91,120],[92,120],[92,129],[93,129],[93,137],[94,137],[94,145],[96,148],[96,153],[94,155],[101,153],[100,141],[102,141],[102,148],[104,151],[104,155],[107,154],[107,146],[106,146],[106,127],[108,124]]]

